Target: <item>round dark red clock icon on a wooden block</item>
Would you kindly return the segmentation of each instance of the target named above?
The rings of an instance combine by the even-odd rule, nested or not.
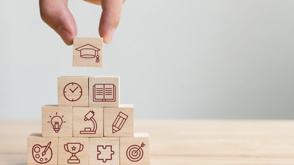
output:
[[[68,83],[63,89],[63,95],[69,101],[76,101],[80,99],[82,93],[82,88],[77,83]]]

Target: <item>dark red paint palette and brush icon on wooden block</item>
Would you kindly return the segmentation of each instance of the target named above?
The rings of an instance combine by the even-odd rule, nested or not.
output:
[[[37,163],[44,164],[51,160],[52,149],[50,148],[50,145],[51,142],[49,142],[46,146],[41,146],[40,144],[35,144],[33,146],[32,155]]]

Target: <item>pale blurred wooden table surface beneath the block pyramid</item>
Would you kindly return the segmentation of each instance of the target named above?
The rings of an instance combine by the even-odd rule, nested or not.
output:
[[[26,164],[26,140],[40,120],[0,121],[0,164]],[[291,120],[135,120],[148,132],[152,165],[294,164]]]

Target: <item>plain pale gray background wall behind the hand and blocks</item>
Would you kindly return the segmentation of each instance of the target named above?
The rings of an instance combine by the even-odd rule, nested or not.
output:
[[[69,1],[78,37],[99,37],[101,6]],[[121,77],[140,118],[294,118],[294,1],[127,0],[103,68],[72,66],[72,46],[38,1],[0,1],[0,118],[41,119],[57,77]]]

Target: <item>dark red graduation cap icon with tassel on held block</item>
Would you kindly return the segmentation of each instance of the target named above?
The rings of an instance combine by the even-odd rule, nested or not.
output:
[[[82,58],[95,58],[96,57],[96,63],[99,63],[98,51],[100,49],[96,48],[95,46],[87,44],[87,45],[81,46],[79,48],[76,48],[76,50],[81,52],[80,56]]]

